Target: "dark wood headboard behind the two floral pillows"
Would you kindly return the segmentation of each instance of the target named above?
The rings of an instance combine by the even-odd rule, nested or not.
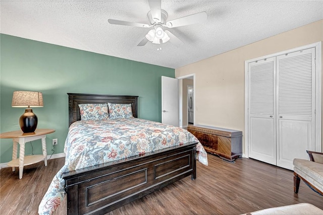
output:
[[[79,104],[118,103],[131,104],[132,115],[138,117],[138,96],[100,95],[68,93],[69,95],[69,126],[81,120]]]

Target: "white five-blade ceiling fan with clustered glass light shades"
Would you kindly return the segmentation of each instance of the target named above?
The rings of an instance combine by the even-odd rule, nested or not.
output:
[[[180,46],[183,44],[183,41],[176,37],[168,30],[163,30],[163,28],[176,28],[185,25],[196,24],[200,22],[206,21],[206,12],[200,12],[197,14],[192,14],[186,17],[178,18],[175,20],[167,21],[168,13],[160,9],[161,8],[161,0],[148,0],[150,11],[147,14],[148,20],[150,24],[142,24],[135,22],[127,22],[120,21],[114,19],[108,19],[107,21],[110,24],[115,25],[127,25],[127,26],[135,26],[141,28],[151,28],[145,37],[138,43],[137,46],[144,46],[148,41],[154,44],[166,43],[170,41],[176,46]]]

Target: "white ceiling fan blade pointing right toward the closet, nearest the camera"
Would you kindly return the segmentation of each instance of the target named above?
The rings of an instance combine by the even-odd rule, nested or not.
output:
[[[188,15],[186,17],[178,18],[176,20],[171,20],[166,23],[169,28],[175,28],[179,26],[191,25],[196,23],[205,22],[207,19],[206,12],[200,12],[197,14]]]

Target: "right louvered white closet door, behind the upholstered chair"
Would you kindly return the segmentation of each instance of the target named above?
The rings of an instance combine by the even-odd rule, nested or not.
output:
[[[315,149],[315,48],[277,56],[277,166]]]

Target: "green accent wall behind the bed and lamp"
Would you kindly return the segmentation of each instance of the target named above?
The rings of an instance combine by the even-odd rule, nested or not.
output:
[[[106,47],[109,48],[109,47]],[[55,153],[63,153],[68,132],[67,93],[133,95],[138,117],[161,121],[161,76],[175,78],[175,69],[0,34],[0,132],[20,130],[24,108],[11,107],[13,92],[40,91],[44,107],[33,108],[38,128],[52,139]],[[0,139],[0,163],[12,159],[12,139]],[[19,153],[19,152],[18,152]],[[25,155],[41,153],[40,140],[26,144]]]

